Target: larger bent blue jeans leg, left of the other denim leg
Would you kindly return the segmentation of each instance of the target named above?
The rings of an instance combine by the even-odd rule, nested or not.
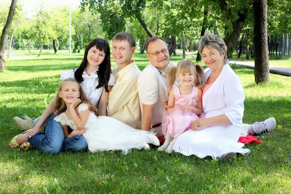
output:
[[[61,124],[54,120],[55,117],[55,114],[49,116],[45,132],[39,132],[28,140],[37,150],[47,154],[60,153],[65,139],[64,130]]]

